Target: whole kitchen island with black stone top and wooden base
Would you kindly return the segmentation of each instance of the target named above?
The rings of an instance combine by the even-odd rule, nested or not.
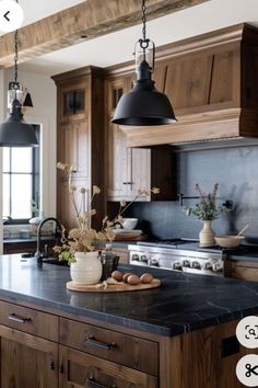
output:
[[[235,328],[258,312],[258,285],[152,273],[160,288],[77,293],[68,267],[1,256],[1,388],[243,387]]]

